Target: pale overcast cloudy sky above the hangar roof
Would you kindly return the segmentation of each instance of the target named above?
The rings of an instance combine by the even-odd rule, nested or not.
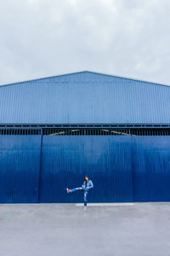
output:
[[[102,71],[170,83],[169,0],[0,0],[0,83]]]

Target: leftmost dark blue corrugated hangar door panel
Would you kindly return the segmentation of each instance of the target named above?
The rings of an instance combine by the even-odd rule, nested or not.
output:
[[[0,135],[0,203],[37,202],[41,136]]]

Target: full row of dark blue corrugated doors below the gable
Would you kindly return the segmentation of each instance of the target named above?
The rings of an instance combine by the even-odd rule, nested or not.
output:
[[[0,136],[0,202],[170,201],[170,136]],[[42,151],[41,151],[42,149]]]

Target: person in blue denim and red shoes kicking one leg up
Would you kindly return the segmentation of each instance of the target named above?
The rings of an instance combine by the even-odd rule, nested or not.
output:
[[[71,193],[74,191],[84,191],[84,210],[87,210],[87,203],[88,203],[88,191],[94,187],[94,184],[92,180],[88,178],[86,175],[84,177],[84,183],[82,184],[81,187],[69,190],[68,188],[66,189],[67,193]]]

